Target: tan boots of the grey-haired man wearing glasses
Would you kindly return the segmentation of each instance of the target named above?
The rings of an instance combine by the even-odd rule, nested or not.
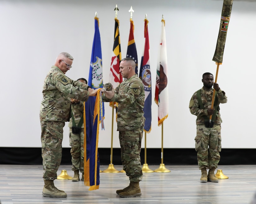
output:
[[[44,180],[43,197],[66,198],[67,193],[60,191],[54,186],[53,180]]]

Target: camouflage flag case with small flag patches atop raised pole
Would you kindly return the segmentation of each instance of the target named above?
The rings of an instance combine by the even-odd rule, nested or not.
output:
[[[224,0],[222,6],[221,20],[220,20],[220,29],[217,40],[217,45],[215,49],[215,53],[213,56],[213,61],[216,63],[222,63],[224,47],[227,37],[227,28],[231,15],[233,0]]]

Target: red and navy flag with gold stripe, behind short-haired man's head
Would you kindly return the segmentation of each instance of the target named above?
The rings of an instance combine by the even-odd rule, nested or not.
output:
[[[136,50],[135,40],[133,36],[133,31],[134,31],[133,20],[130,19],[130,34],[129,34],[126,57],[130,57],[134,60],[134,62],[136,63],[135,73],[138,74],[138,56],[137,56],[137,50]]]

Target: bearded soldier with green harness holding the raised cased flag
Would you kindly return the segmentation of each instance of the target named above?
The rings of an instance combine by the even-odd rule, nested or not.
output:
[[[213,74],[207,72],[203,74],[202,82],[204,86],[196,91],[189,103],[190,112],[197,116],[195,150],[202,176],[201,183],[207,181],[218,182],[214,171],[218,167],[221,151],[221,117],[219,104],[227,103],[227,96],[217,83],[213,83]],[[211,108],[213,88],[215,89],[214,107]],[[209,123],[209,116],[212,121]],[[207,170],[209,169],[208,175]]]

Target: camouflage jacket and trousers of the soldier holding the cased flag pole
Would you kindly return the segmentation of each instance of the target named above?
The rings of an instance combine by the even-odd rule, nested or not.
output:
[[[197,151],[197,160],[199,169],[217,168],[220,160],[221,151],[221,117],[219,111],[216,114],[213,128],[206,128],[204,125],[205,116],[209,115],[207,109],[211,108],[213,96],[213,88],[210,91],[205,91],[204,87],[201,88],[201,99],[204,109],[199,108],[199,101],[197,92],[195,92],[190,100],[189,108],[193,115],[196,115],[196,137],[195,137],[195,150]],[[227,96],[224,91],[219,89],[217,91],[217,104],[227,103]],[[209,146],[209,147],[208,147]]]

